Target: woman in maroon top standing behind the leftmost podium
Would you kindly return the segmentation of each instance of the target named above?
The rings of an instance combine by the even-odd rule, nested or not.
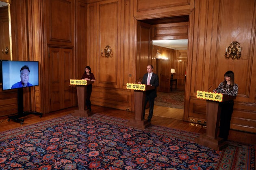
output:
[[[91,67],[86,66],[85,67],[85,73],[82,75],[82,80],[87,80],[87,81],[95,81],[95,77],[93,73],[91,73]],[[92,91],[92,85],[87,85],[87,93],[86,93],[86,106],[87,109],[91,111],[91,91]]]

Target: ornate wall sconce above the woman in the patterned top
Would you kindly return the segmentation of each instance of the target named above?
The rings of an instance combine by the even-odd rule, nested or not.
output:
[[[230,43],[230,46],[226,47],[225,57],[227,59],[231,57],[233,60],[235,60],[241,57],[241,47],[238,45],[240,45],[240,43],[238,43],[237,41],[233,41],[232,43]]]

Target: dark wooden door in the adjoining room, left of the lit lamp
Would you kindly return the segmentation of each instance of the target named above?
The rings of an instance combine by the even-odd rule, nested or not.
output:
[[[159,77],[159,91],[170,92],[170,60],[157,59],[158,63],[158,77]]]

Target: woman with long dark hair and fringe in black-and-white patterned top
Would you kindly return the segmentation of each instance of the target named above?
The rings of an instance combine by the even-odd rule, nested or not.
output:
[[[231,96],[236,96],[238,93],[238,85],[234,83],[234,72],[227,71],[224,74],[224,81],[214,89],[215,93],[222,93]],[[230,121],[234,108],[234,100],[219,103],[221,107],[219,137],[224,141],[228,140],[230,130]]]

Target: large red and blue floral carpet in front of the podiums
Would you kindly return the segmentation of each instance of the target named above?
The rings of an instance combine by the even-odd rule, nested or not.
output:
[[[199,134],[94,114],[67,115],[0,133],[1,169],[166,169],[255,168],[255,146],[230,142],[215,151],[194,142]]]

